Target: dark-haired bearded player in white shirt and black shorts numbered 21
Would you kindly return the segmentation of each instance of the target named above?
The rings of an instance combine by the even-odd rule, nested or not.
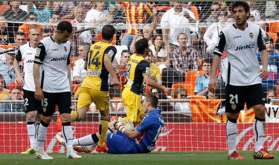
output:
[[[216,75],[223,51],[226,50],[229,65],[226,85],[226,124],[229,154],[228,159],[244,160],[235,149],[236,121],[239,111],[246,102],[247,107],[253,107],[255,112],[255,159],[273,159],[274,156],[263,149],[265,130],[264,93],[261,78],[267,78],[267,51],[263,43],[260,27],[247,23],[250,10],[247,3],[236,1],[232,5],[233,16],[236,22],[225,27],[219,36],[219,43],[214,50],[212,75]],[[260,69],[257,49],[261,52],[263,68]],[[259,76],[260,75],[260,76]],[[208,89],[214,93],[218,83],[215,76],[211,77]]]

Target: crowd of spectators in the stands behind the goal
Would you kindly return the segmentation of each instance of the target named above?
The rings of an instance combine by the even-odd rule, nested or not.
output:
[[[262,4],[264,3],[264,4]],[[116,35],[113,45],[117,48],[116,63],[117,76],[121,88],[115,89],[110,83],[110,97],[121,99],[127,74],[127,63],[135,51],[134,44],[141,38],[149,40],[149,56],[151,78],[159,84],[168,81],[170,86],[175,83],[188,83],[190,88],[179,87],[166,96],[157,89],[143,86],[144,93],[152,92],[159,99],[186,99],[191,95],[203,95],[209,99],[223,98],[224,82],[226,81],[228,61],[222,57],[219,72],[216,77],[220,90],[216,93],[208,92],[211,76],[213,51],[218,43],[222,29],[234,22],[231,12],[232,2],[0,2],[0,51],[19,47],[28,42],[29,28],[39,27],[42,31],[41,39],[52,36],[56,25],[61,20],[73,24],[74,31],[94,27],[94,29],[75,33],[71,36],[71,68],[72,88],[76,91],[81,85],[86,70],[84,62],[91,44],[101,40],[100,29],[104,24],[116,25]],[[278,88],[279,78],[279,39],[276,31],[261,21],[267,21],[277,14],[276,2],[249,2],[251,8],[251,23],[258,23],[265,36],[265,43],[269,53],[269,77],[262,81],[267,97],[271,90]],[[262,7],[260,7],[262,6]],[[265,7],[263,7],[265,6]],[[268,10],[268,11],[267,11]],[[97,25],[97,26],[94,26]],[[123,26],[121,26],[123,25]],[[123,28],[126,27],[126,28]],[[275,33],[274,35],[270,35]],[[16,51],[0,54],[0,100],[21,100],[21,87],[17,85],[14,74],[13,61]],[[260,61],[260,52],[255,54]],[[22,64],[24,67],[24,64]],[[187,81],[187,72],[194,73],[194,79]],[[172,79],[169,76],[172,75]],[[198,76],[197,76],[198,75]],[[194,92],[191,93],[190,90]],[[273,92],[274,93],[274,92]],[[75,99],[75,98],[73,98]],[[94,103],[90,106],[96,111]],[[0,112],[24,111],[23,104],[2,103]],[[159,103],[158,108],[163,111],[190,112],[189,102]],[[121,103],[112,106],[112,111],[125,111]]]

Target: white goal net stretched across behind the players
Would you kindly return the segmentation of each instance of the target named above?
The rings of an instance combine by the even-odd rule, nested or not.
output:
[[[269,53],[269,77],[262,81],[266,94],[266,129],[264,147],[279,150],[279,40],[278,2],[248,2],[248,22],[261,27]],[[13,61],[19,46],[29,41],[30,27],[39,27],[41,39],[56,33],[60,21],[69,21],[74,33],[71,47],[72,84],[74,92],[86,76],[83,61],[91,44],[102,39],[101,29],[112,24],[116,34],[112,41],[117,49],[115,68],[121,83],[116,89],[109,78],[110,116],[126,117],[121,93],[126,82],[129,56],[135,42],[149,40],[151,78],[165,87],[165,94],[143,84],[143,96],[152,92],[159,98],[165,128],[154,151],[227,150],[225,82],[228,60],[223,53],[217,75],[211,75],[213,51],[222,29],[234,23],[231,2],[0,2],[0,153],[20,153],[30,146],[22,87],[16,81]],[[269,37],[268,37],[269,36]],[[261,65],[260,54],[258,56]],[[245,64],[239,64],[245,65]],[[20,63],[22,73],[24,63]],[[208,93],[208,77],[216,76],[219,87]],[[19,87],[19,89],[17,89]],[[78,98],[72,98],[75,109]],[[55,140],[61,135],[55,128],[58,112],[48,127],[45,150],[64,152]],[[237,124],[237,150],[253,150],[255,114],[246,106]],[[82,122],[72,122],[74,138],[98,131],[99,114],[92,103]]]

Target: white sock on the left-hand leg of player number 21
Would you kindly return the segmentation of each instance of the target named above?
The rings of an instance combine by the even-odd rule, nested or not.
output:
[[[236,142],[236,120],[228,118],[226,124],[227,131],[227,139],[228,139],[228,147],[229,147],[229,155],[236,151],[235,142]]]

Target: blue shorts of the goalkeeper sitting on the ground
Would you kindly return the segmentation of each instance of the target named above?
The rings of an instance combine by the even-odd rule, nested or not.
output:
[[[120,131],[117,131],[116,134],[108,133],[107,147],[109,148],[108,153],[141,153],[135,142]]]

